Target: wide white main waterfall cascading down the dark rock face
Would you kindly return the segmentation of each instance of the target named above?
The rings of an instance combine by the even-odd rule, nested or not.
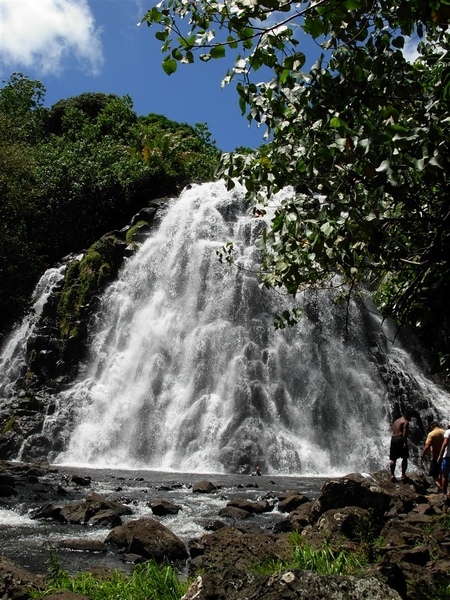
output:
[[[223,182],[186,189],[127,260],[102,297],[88,367],[60,396],[74,426],[55,462],[185,472],[382,468],[390,355],[428,395],[425,404],[431,394],[448,406],[431,383],[417,383],[417,366],[402,349],[395,354],[367,307],[350,305],[347,335],[345,308],[309,294],[299,324],[275,330],[292,298],[258,285],[254,240],[265,223],[243,197]],[[228,241],[239,268],[217,259]],[[384,371],[374,358],[381,346]]]

